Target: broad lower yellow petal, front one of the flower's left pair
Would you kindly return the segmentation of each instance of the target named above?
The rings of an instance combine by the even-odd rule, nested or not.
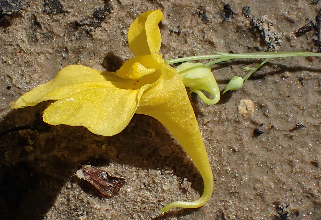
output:
[[[52,103],[43,120],[53,125],[84,126],[95,134],[112,136],[127,126],[143,90],[87,89]]]

